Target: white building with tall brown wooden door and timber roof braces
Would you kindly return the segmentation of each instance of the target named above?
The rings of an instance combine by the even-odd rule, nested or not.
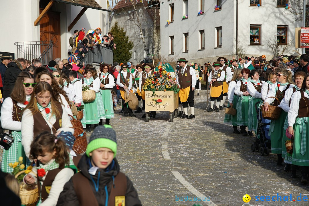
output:
[[[50,4],[47,13],[35,25],[40,11]],[[80,19],[68,31],[70,24],[86,8]],[[17,59],[15,42],[53,40],[54,59],[66,59],[68,51],[72,49],[69,46],[69,38],[75,29],[80,30],[83,27],[87,32],[101,27],[102,33],[108,30],[108,11],[103,10],[107,10],[106,0],[2,0],[0,13],[3,30],[0,37],[5,41],[2,41],[1,52],[15,53]],[[36,51],[36,55],[40,55],[41,52],[42,48]]]

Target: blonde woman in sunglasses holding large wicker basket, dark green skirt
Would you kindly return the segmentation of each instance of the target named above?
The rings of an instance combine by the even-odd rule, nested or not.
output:
[[[287,89],[294,87],[292,74],[286,70],[281,69],[277,74],[277,84],[273,84],[266,96],[264,103],[264,111],[269,111],[269,104],[273,103],[273,106],[278,106],[284,98]],[[273,97],[279,99],[279,101]],[[277,166],[282,166],[282,137],[283,126],[286,119],[287,112],[281,111],[277,120],[271,120],[269,125],[269,135],[271,141],[271,152],[277,154]]]

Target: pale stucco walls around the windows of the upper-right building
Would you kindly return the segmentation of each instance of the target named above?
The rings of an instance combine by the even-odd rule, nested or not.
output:
[[[170,18],[170,6],[174,4],[174,22],[167,24]],[[219,56],[236,58],[236,1],[222,1],[222,9],[215,11],[216,1],[205,1],[204,14],[198,15],[199,0],[188,4],[188,19],[182,19],[183,1],[162,1],[161,7],[161,56],[174,59],[184,57],[187,60],[204,63],[214,62]],[[288,25],[288,40],[295,39],[295,27],[302,22],[293,23],[293,16],[282,15],[285,8],[276,8],[277,1],[263,1],[262,6],[250,6],[249,0],[239,0],[238,40],[246,47],[247,56],[266,55],[273,57],[267,48],[269,37],[277,34],[277,25]],[[170,20],[170,19],[169,19]],[[249,46],[250,24],[261,24],[261,46]],[[222,47],[217,46],[216,27],[222,27]],[[205,30],[205,50],[199,50],[199,31]],[[189,33],[189,51],[184,53],[184,33]],[[170,55],[170,36],[174,36],[174,55]],[[281,46],[282,47],[282,46]],[[285,54],[296,55],[291,47]],[[300,51],[300,49],[298,49]],[[301,52],[300,52],[301,53]],[[298,55],[298,54],[297,54]]]

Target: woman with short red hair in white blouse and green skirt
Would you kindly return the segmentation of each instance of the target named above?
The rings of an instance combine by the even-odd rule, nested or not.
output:
[[[242,69],[241,74],[243,77],[237,82],[235,86],[235,94],[239,96],[237,100],[237,124],[240,126],[240,133],[243,136],[247,136],[246,127],[248,125],[248,114],[249,114],[249,92],[247,91],[247,85],[251,82],[249,77],[250,70],[245,68]]]

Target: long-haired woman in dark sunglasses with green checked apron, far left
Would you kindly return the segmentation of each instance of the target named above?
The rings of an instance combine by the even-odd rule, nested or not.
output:
[[[14,137],[14,143],[9,150],[3,151],[1,170],[11,173],[13,168],[9,163],[18,162],[19,157],[26,161],[26,155],[21,144],[21,118],[24,108],[28,105],[33,91],[34,79],[26,72],[21,72],[15,82],[11,97],[4,100],[1,108],[2,128],[8,129],[11,136]]]

